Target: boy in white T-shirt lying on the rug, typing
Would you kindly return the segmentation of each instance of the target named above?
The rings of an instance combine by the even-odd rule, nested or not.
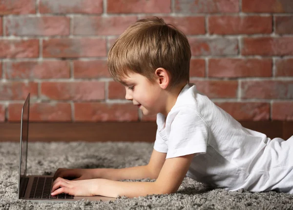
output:
[[[271,140],[243,128],[190,87],[188,39],[163,19],[141,19],[115,41],[108,55],[114,80],[144,115],[157,115],[154,150],[146,166],[58,169],[53,195],[117,197],[169,194],[187,175],[217,188],[293,193],[293,136]],[[65,177],[76,177],[67,180]],[[155,182],[121,182],[122,179]]]

